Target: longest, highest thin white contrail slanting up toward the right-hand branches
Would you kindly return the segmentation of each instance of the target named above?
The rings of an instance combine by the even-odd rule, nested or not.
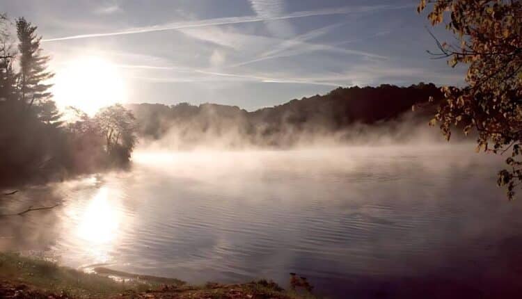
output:
[[[113,36],[113,35],[127,35],[127,34],[136,34],[136,33],[148,33],[155,31],[167,31],[167,30],[177,30],[177,29],[186,29],[186,28],[196,28],[196,27],[205,27],[205,26],[219,26],[219,25],[228,25],[228,24],[244,24],[244,23],[253,23],[253,22],[266,22],[266,21],[274,21],[278,19],[295,19],[299,17],[313,17],[319,15],[346,15],[349,13],[365,13],[371,12],[375,10],[392,10],[392,9],[400,9],[400,8],[409,8],[413,7],[412,5],[403,5],[403,6],[389,6],[389,5],[381,5],[381,6],[358,6],[358,7],[342,7],[342,8],[329,8],[322,10],[311,10],[311,11],[300,11],[296,13],[290,13],[287,15],[280,15],[274,17],[267,16],[246,16],[246,17],[221,17],[216,19],[204,19],[200,21],[193,22],[178,22],[172,24],[165,25],[155,25],[155,26],[146,26],[146,27],[137,27],[133,29],[127,29],[123,31],[116,31],[110,33],[90,33],[90,34],[82,34],[82,35],[70,35],[62,38],[49,38],[46,40],[42,40],[42,42],[55,42],[58,40],[77,40],[81,38],[100,38],[104,36]]]

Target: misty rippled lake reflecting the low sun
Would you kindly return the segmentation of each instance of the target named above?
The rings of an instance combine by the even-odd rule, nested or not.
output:
[[[0,250],[188,282],[308,277],[334,298],[522,290],[522,206],[474,145],[145,152],[129,171],[26,188]],[[462,296],[462,295],[461,295]]]

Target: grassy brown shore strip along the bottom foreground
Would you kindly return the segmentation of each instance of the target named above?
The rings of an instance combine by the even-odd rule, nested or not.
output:
[[[100,274],[84,273],[72,268],[58,266],[51,261],[22,257],[15,253],[0,252],[0,297],[113,299],[315,298],[311,294],[285,291],[274,282],[267,280],[246,284],[207,283],[204,286],[191,286],[176,279],[136,275],[107,268],[97,268],[95,270]],[[105,275],[120,277],[122,281],[113,280]]]

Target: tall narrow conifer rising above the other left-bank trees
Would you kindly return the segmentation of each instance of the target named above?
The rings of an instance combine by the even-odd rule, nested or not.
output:
[[[52,96],[49,88],[52,84],[45,81],[52,79],[54,74],[47,71],[49,56],[42,55],[40,40],[36,35],[37,26],[20,17],[16,22],[19,40],[18,51],[20,61],[19,93],[22,103],[31,107],[33,103],[43,103]]]

